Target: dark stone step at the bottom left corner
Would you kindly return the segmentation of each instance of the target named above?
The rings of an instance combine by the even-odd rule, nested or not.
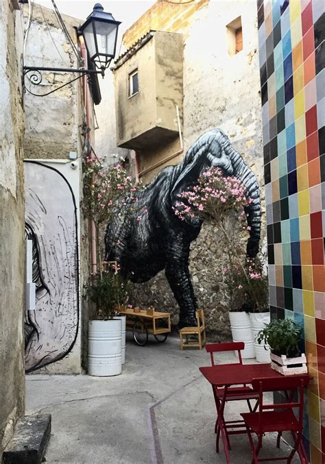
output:
[[[3,451],[5,464],[40,464],[51,433],[51,415],[30,415],[16,422],[14,435]]]

